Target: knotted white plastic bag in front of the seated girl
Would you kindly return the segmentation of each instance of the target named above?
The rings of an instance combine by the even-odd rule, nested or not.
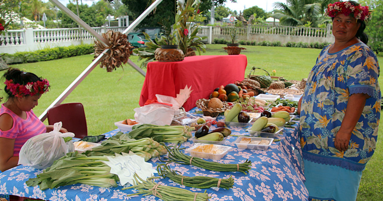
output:
[[[68,152],[75,151],[75,146],[70,140],[65,142],[64,137],[74,137],[74,133],[59,132],[63,124],[53,125],[53,131],[34,136],[27,140],[21,147],[19,164],[28,165],[38,169],[45,169],[53,162]]]

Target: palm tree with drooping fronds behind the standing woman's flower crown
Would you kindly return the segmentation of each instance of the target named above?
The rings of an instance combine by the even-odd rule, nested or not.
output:
[[[287,0],[286,4],[277,2],[275,7],[278,10],[270,16],[279,19],[279,23],[284,26],[310,24],[317,27],[324,22],[327,5],[334,2],[336,0]]]

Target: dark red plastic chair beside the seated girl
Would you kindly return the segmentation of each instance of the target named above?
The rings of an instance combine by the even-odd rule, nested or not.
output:
[[[53,106],[47,112],[48,124],[63,123],[63,128],[75,134],[77,138],[88,135],[84,106],[81,103],[65,103]]]

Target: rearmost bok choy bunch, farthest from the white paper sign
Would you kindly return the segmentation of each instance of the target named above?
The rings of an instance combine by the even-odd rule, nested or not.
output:
[[[157,142],[177,143],[178,141],[185,142],[192,137],[189,126],[157,126],[153,124],[134,125],[133,130],[128,134],[131,138],[141,139],[151,137]]]

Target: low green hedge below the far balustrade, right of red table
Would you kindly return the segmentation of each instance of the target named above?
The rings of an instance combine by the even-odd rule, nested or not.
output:
[[[230,43],[230,41],[227,41],[225,39],[214,39],[213,41],[215,44],[228,44]],[[274,41],[274,42],[270,42],[270,41],[260,41],[260,42],[257,42],[257,41],[244,41],[244,40],[241,40],[238,42],[240,45],[248,45],[248,46],[274,46],[274,47],[294,47],[294,48],[316,48],[316,49],[323,49],[325,46],[329,45],[330,43],[319,43],[319,42],[315,42],[315,43],[303,43],[303,42],[299,42],[299,43],[295,43],[295,42],[288,42],[286,43],[285,45],[282,45],[280,41]]]

